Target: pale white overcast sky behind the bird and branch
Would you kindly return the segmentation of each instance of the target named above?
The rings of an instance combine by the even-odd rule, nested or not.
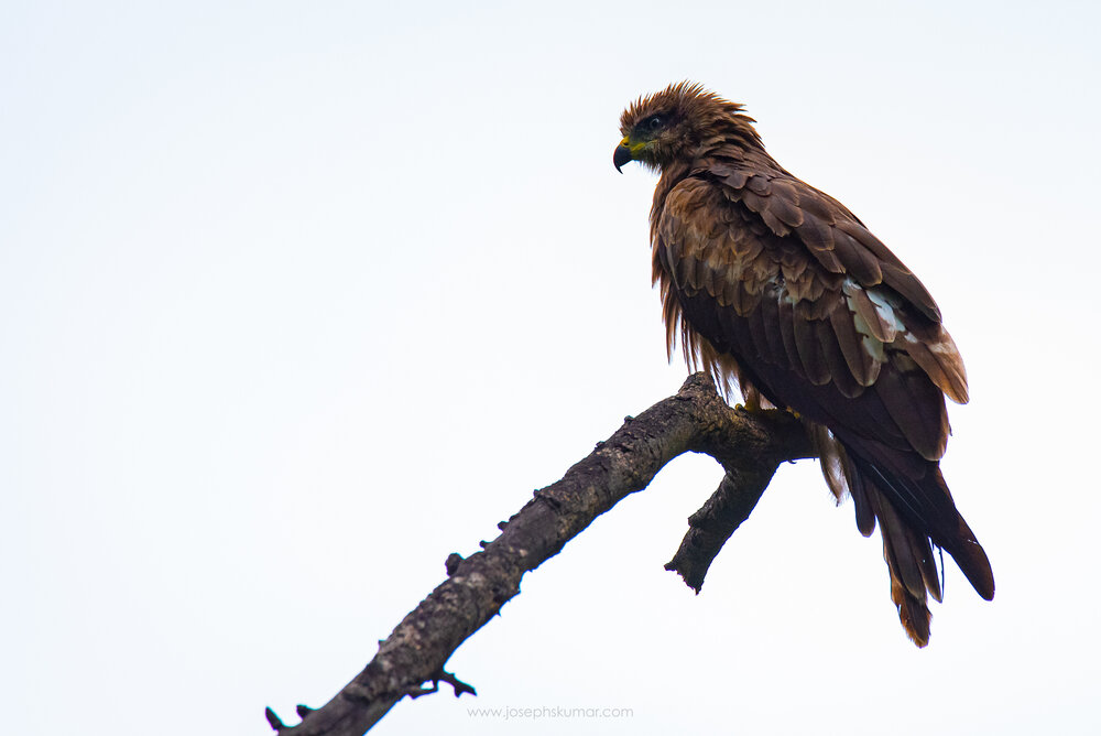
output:
[[[923,279],[998,581],[906,639],[877,534],[781,469],[698,597],[684,457],[379,734],[1087,734],[1093,2],[48,2],[0,10],[3,729],[270,733],[675,392],[622,108],[690,78]],[[946,558],[947,559],[947,558]],[[504,721],[470,708],[630,708]]]

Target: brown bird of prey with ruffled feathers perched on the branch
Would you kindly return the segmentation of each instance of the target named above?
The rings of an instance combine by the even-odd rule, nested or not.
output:
[[[940,310],[917,277],[831,196],[764,149],[742,106],[687,82],[623,111],[613,163],[661,173],[650,215],[654,283],[672,355],[679,337],[748,407],[807,425],[838,501],[876,523],[906,634],[929,641],[941,599],[934,548],[994,596],[985,552],[940,473],[947,394],[967,375]]]

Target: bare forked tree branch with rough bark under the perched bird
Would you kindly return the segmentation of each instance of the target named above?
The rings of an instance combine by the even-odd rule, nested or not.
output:
[[[333,700],[317,710],[298,706],[298,725],[284,725],[270,708],[268,722],[281,736],[361,736],[402,697],[436,692],[440,681],[456,696],[473,693],[444,671],[455,650],[520,593],[524,573],[685,452],[711,455],[727,472],[689,519],[690,529],[666,565],[698,592],[715,555],[753,510],[780,463],[808,457],[810,444],[792,414],[731,409],[705,374],[689,377],[675,396],[629,416],[560,480],[535,491],[481,552],[466,560],[448,556],[448,580],[380,642],[374,659]],[[426,682],[432,686],[424,688]]]

